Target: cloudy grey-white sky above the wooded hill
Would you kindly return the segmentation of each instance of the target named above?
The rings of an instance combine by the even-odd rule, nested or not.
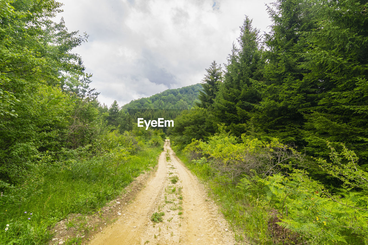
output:
[[[59,0],[68,30],[89,35],[72,50],[92,73],[101,104],[119,106],[201,82],[227,63],[245,15],[261,33],[271,21],[258,0]],[[268,2],[267,2],[268,3]]]

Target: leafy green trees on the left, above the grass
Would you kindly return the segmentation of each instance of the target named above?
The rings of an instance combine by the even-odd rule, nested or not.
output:
[[[52,164],[62,148],[90,143],[103,124],[83,80],[89,75],[70,52],[87,36],[52,21],[61,4],[17,0],[1,6],[0,179],[17,184]],[[85,90],[76,94],[77,85]]]

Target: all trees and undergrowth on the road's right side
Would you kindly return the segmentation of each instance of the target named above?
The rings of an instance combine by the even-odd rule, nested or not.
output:
[[[246,17],[178,155],[209,182],[239,239],[368,244],[367,1],[278,0],[268,34]]]

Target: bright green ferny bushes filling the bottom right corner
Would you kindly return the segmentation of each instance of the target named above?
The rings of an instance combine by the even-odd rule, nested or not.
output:
[[[244,177],[237,188],[245,196],[255,191],[278,210],[277,224],[300,234],[308,244],[368,244],[368,173],[356,164],[354,152],[342,145],[338,153],[330,147],[330,159],[316,159],[321,170],[344,182],[332,193],[307,171],[293,169],[267,178]]]

